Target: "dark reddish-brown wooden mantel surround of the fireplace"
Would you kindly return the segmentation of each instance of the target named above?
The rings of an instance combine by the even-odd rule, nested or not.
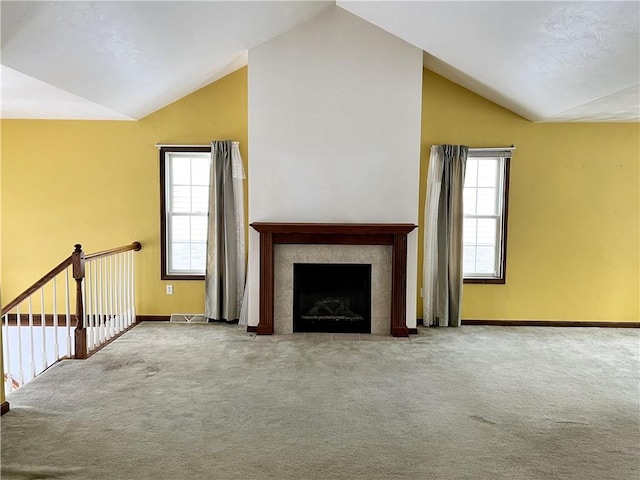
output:
[[[412,223],[269,223],[254,222],[260,233],[260,320],[256,332],[273,334],[273,246],[275,244],[391,245],[391,318],[394,337],[409,335],[407,303],[407,235]]]

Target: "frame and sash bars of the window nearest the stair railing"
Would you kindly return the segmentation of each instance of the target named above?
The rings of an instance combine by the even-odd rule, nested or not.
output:
[[[204,269],[174,269],[172,260],[172,225],[176,217],[207,217],[209,212],[174,212],[172,208],[173,172],[171,160],[174,157],[193,158],[208,155],[210,147],[162,147],[160,149],[160,210],[161,210],[161,278],[163,280],[204,280]]]

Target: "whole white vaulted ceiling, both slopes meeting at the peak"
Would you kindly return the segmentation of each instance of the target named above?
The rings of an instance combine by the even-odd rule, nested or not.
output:
[[[2,1],[1,114],[139,119],[335,5],[529,120],[640,120],[638,1]]]

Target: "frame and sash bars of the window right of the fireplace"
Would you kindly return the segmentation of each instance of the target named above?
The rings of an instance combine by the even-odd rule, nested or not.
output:
[[[498,168],[496,169],[496,212],[495,215],[487,214],[471,214],[465,211],[465,219],[494,219],[496,221],[496,241],[495,241],[495,269],[492,273],[481,272],[464,272],[463,257],[463,279],[464,283],[506,283],[506,255],[507,255],[507,218],[509,205],[509,170],[511,161],[510,150],[486,150],[480,151],[469,150],[467,161],[476,159],[496,159],[498,160]],[[476,190],[477,194],[477,190]],[[476,197],[477,204],[477,197]],[[464,234],[463,234],[464,238]],[[477,238],[477,233],[476,233]],[[475,245],[478,245],[476,242]],[[464,255],[464,253],[463,253]]]

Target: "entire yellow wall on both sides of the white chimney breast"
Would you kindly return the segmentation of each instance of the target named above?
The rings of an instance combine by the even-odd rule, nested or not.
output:
[[[138,312],[201,312],[203,282],[160,280],[154,145],[226,138],[246,166],[246,69],[138,122],[3,121],[5,303],[74,243],[139,240]],[[465,286],[464,318],[638,321],[638,123],[534,124],[425,70],[421,216],[429,146],[441,143],[517,147],[507,284]]]

